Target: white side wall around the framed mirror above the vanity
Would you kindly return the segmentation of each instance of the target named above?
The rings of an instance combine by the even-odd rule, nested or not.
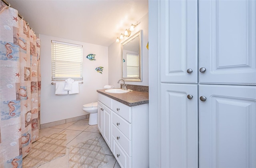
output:
[[[140,20],[138,20],[138,22],[138,26],[134,28],[134,31],[132,32],[130,37],[142,29],[142,82],[127,81],[125,83],[148,86],[148,49],[146,48],[148,44],[148,14],[143,16]],[[120,34],[121,33],[123,32],[120,32]],[[121,43],[127,39],[128,38],[125,37],[123,40],[120,40],[119,43],[114,42],[108,47],[108,81],[109,84],[113,85],[115,88],[120,88],[120,84],[118,84],[117,82],[119,79],[121,79],[122,76]]]

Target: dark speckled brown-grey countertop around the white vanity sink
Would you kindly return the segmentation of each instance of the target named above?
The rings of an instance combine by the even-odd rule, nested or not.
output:
[[[148,92],[130,91],[127,93],[108,93],[105,90],[101,89],[97,90],[97,92],[130,107],[148,103]]]

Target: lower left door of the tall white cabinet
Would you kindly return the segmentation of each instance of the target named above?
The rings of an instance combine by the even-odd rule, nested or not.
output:
[[[197,97],[197,84],[161,84],[161,167],[198,167]]]

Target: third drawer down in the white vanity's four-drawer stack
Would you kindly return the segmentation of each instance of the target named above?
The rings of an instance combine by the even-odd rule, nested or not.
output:
[[[132,141],[129,140],[114,124],[112,124],[112,138],[124,148],[129,156],[132,156]]]

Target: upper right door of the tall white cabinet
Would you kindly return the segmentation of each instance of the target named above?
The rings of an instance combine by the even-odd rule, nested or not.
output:
[[[199,0],[201,84],[256,85],[255,11],[255,0]]]

